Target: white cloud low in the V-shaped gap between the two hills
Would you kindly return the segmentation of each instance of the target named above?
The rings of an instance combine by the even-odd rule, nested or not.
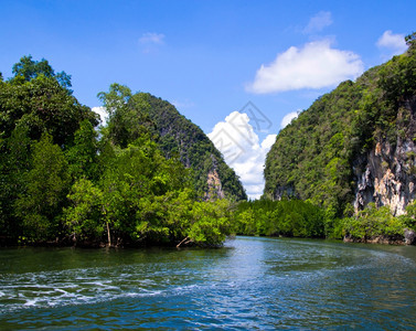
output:
[[[225,121],[217,122],[207,136],[223,153],[225,162],[239,175],[247,195],[250,199],[260,197],[265,184],[263,167],[276,135],[268,135],[259,142],[248,115],[233,111]]]

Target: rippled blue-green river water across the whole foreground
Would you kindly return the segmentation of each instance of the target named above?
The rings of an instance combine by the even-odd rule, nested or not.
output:
[[[238,237],[218,249],[0,249],[0,329],[403,329],[416,247]]]

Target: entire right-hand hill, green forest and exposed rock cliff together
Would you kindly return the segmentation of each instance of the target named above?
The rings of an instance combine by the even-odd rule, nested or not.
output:
[[[280,131],[265,197],[308,200],[332,220],[369,204],[405,213],[416,184],[415,33],[406,42],[405,54],[340,84]]]

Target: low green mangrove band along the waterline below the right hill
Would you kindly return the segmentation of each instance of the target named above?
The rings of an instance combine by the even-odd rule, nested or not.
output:
[[[343,218],[301,200],[257,200],[241,202],[233,213],[233,231],[249,236],[326,237],[366,242],[383,238],[403,241],[404,228],[416,228],[416,202],[405,215],[395,217],[388,206],[374,203],[356,215]]]

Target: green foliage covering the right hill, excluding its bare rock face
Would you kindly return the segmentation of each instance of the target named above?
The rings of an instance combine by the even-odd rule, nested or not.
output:
[[[405,107],[416,96],[414,40],[407,36],[406,53],[340,84],[280,131],[266,160],[265,197],[310,200],[327,218],[352,216],[354,162],[380,141],[394,148],[397,139],[415,138]]]

